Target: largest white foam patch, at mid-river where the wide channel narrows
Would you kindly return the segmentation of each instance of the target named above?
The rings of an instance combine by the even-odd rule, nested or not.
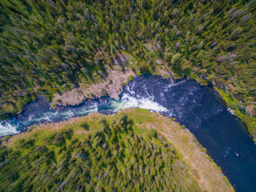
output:
[[[112,101],[112,106],[114,108],[113,112],[116,112],[119,109],[137,107],[156,112],[168,111],[167,108],[163,107],[162,105],[159,105],[157,102],[153,102],[153,96],[137,99],[128,93],[124,93],[120,101]]]

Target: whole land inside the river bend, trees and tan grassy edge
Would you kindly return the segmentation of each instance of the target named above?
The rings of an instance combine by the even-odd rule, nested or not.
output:
[[[1,145],[1,191],[232,191],[192,134],[126,109],[31,127]]]

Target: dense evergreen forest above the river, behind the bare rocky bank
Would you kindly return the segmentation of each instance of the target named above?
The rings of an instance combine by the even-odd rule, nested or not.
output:
[[[255,0],[1,0],[0,113],[95,82],[122,53],[138,75],[212,81],[252,116],[255,37]]]

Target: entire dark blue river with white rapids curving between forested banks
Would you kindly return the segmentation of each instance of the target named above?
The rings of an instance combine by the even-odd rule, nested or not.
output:
[[[227,111],[211,88],[184,80],[145,75],[129,82],[119,101],[105,97],[58,110],[38,99],[20,115],[0,122],[0,136],[26,131],[33,124],[58,122],[93,111],[115,113],[121,108],[145,108],[185,125],[207,148],[236,191],[256,192],[256,145],[244,123]]]

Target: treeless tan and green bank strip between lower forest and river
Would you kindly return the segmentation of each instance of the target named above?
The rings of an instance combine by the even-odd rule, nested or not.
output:
[[[160,140],[165,137],[168,143],[178,151],[178,156],[183,163],[189,167],[189,174],[198,182],[202,191],[232,191],[227,178],[221,174],[221,170],[212,159],[205,154],[205,150],[203,151],[203,148],[188,129],[159,113],[149,112],[140,108],[121,110],[114,116],[94,112],[87,116],[76,117],[63,122],[41,124],[34,129],[30,129],[29,132],[11,137],[7,147],[13,147],[15,142],[22,138],[26,138],[26,140],[35,139],[38,144],[43,144],[45,143],[44,137],[62,128],[72,128],[73,134],[81,139],[88,132],[99,129],[97,124],[99,119],[104,117],[108,122],[112,122],[120,113],[125,113],[128,119],[134,122],[133,130],[140,137],[146,137],[148,130],[152,128],[156,129]],[[83,125],[87,125],[86,127],[90,127],[90,129],[87,130]]]

